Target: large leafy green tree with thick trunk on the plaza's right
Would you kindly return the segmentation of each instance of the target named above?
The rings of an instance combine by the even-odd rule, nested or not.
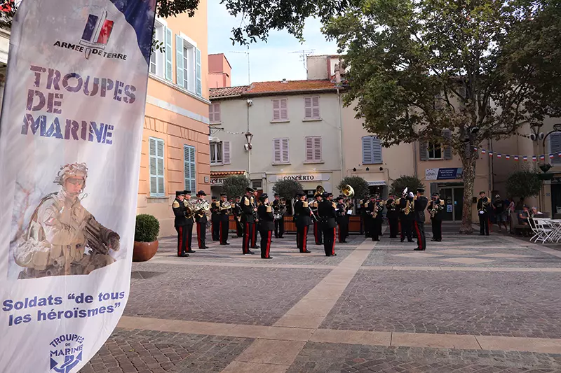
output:
[[[461,158],[461,232],[472,232],[473,148],[561,113],[558,2],[359,0],[325,25],[346,52],[345,104],[369,132]]]

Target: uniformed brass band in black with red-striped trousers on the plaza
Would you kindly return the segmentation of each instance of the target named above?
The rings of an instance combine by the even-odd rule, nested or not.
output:
[[[251,248],[260,248],[261,258],[271,259],[271,242],[275,238],[282,239],[285,232],[284,217],[287,214],[286,199],[278,194],[269,203],[269,196],[262,194],[257,197],[253,188],[246,188],[245,195],[228,200],[226,193],[220,193],[220,199],[212,197],[208,202],[203,190],[196,193],[196,199],[191,199],[190,190],[182,190],[175,193],[176,197],[172,204],[175,216],[175,229],[177,230],[177,255],[183,258],[189,253],[195,253],[191,249],[191,232],[194,223],[197,229],[198,248],[208,248],[205,244],[205,232],[207,225],[212,223],[212,239],[219,241],[220,245],[229,245],[229,222],[230,215],[234,216],[236,234],[242,237],[243,255],[252,255]],[[294,223],[296,225],[296,246],[300,253],[311,253],[308,248],[309,227],[313,225],[313,237],[316,245],[323,245],[326,256],[335,256],[335,241],[345,243],[349,237],[349,215],[353,213],[354,205],[351,200],[354,190],[350,185],[342,187],[342,196],[333,201],[333,195],[325,192],[323,187],[318,186],[311,201],[306,193],[299,192],[293,206]],[[478,210],[482,220],[481,234],[486,234],[488,228],[487,207],[489,199],[485,193],[480,193]],[[384,221],[383,213],[386,210],[390,238],[397,238],[400,232],[401,242],[413,242],[413,236],[417,237],[416,251],[426,250],[426,239],[424,232],[425,210],[431,218],[433,241],[442,241],[442,220],[445,212],[445,202],[440,199],[438,193],[433,193],[429,202],[424,197],[424,188],[417,189],[417,195],[413,192],[403,190],[402,196],[390,194],[386,201],[379,195],[370,195],[358,201],[356,215],[360,216],[360,230],[365,237],[371,237],[372,241],[379,241],[381,227]],[[257,246],[257,232],[261,237],[260,246]],[[337,234],[338,232],[338,234]],[[488,233],[487,233],[488,234]]]

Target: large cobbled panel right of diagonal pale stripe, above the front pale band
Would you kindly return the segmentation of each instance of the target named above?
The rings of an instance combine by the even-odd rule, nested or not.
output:
[[[360,270],[320,328],[561,337],[560,273]]]

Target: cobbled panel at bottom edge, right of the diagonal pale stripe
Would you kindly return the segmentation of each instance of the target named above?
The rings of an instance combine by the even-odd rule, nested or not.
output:
[[[561,355],[308,342],[288,373],[561,372]]]

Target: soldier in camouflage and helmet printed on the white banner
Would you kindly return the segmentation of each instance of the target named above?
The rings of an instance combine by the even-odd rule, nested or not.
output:
[[[87,177],[85,163],[60,168],[54,181],[60,191],[41,199],[14,249],[15,262],[25,267],[20,279],[90,274],[115,261],[109,249],[119,250],[119,234],[98,223],[79,199]]]

